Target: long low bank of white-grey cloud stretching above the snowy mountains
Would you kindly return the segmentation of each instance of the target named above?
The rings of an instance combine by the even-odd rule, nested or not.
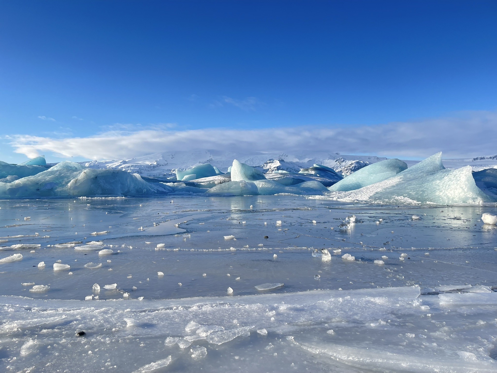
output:
[[[374,126],[313,126],[239,130],[226,128],[173,130],[163,126],[116,126],[88,137],[52,138],[12,135],[15,152],[35,157],[52,153],[62,158],[126,159],[158,152],[225,150],[234,154],[322,153],[372,154],[423,158],[438,151],[444,158],[497,153],[496,112]]]

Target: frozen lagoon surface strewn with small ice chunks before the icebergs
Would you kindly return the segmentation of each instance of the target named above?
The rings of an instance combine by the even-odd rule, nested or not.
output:
[[[497,227],[481,221],[495,207],[290,195],[0,207],[0,259],[22,255],[0,264],[1,372],[497,372]]]

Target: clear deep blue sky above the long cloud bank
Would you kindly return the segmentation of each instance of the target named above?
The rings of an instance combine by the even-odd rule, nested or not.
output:
[[[496,1],[3,1],[0,159],[112,157],[57,146],[150,129],[495,128],[496,19]],[[349,145],[329,150],[402,148]]]

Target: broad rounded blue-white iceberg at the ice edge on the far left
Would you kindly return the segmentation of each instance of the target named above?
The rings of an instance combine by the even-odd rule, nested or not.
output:
[[[0,183],[0,198],[132,196],[171,191],[172,188],[163,184],[147,183],[138,174],[114,169],[90,169],[68,161],[12,183]]]

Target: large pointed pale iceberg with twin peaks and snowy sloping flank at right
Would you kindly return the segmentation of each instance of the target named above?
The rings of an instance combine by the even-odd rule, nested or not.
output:
[[[497,198],[485,194],[476,186],[471,166],[445,169],[442,153],[432,155],[379,183],[356,190],[333,191],[325,198],[382,204],[482,205],[497,202]]]

